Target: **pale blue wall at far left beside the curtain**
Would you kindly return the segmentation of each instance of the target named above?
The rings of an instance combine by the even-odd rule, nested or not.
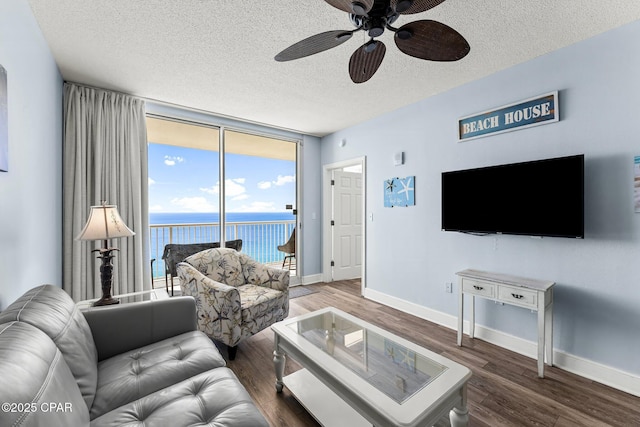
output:
[[[62,77],[26,0],[0,2],[9,172],[0,172],[0,310],[62,284]]]

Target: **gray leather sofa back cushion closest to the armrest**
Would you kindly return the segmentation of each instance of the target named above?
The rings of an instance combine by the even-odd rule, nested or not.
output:
[[[91,329],[71,297],[56,286],[38,286],[0,313],[0,323],[9,321],[29,323],[53,340],[90,408],[96,393],[98,356]]]

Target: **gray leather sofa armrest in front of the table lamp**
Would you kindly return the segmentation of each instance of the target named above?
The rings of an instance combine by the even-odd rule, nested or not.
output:
[[[188,296],[94,307],[83,314],[99,361],[197,330],[195,301]]]

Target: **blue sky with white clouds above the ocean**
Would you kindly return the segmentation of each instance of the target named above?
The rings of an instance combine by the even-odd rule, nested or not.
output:
[[[218,212],[217,151],[149,144],[150,212]],[[227,212],[295,206],[295,162],[227,154]]]

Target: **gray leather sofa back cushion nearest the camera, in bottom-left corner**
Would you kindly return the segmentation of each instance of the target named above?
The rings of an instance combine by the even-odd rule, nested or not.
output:
[[[0,382],[0,426],[89,424],[85,401],[62,353],[34,326],[0,325]]]

